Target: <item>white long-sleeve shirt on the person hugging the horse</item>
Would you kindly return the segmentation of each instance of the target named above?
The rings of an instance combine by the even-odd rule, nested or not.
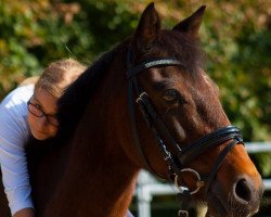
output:
[[[34,85],[18,87],[0,104],[0,165],[12,215],[34,207],[25,155],[25,144],[30,137],[27,101],[33,93]]]

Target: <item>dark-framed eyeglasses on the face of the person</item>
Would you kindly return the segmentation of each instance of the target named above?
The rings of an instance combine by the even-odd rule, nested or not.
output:
[[[55,115],[49,115],[49,114],[46,114],[39,104],[35,104],[35,103],[31,103],[30,100],[27,102],[27,108],[28,111],[36,117],[42,117],[44,116],[47,118],[47,122],[50,124],[50,125],[53,125],[55,127],[59,127],[60,125],[60,122],[59,119],[56,118]]]

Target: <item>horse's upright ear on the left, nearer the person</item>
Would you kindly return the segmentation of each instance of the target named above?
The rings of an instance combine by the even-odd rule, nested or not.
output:
[[[138,49],[149,47],[158,30],[160,29],[160,20],[154,8],[154,3],[150,3],[143,11],[139,25],[134,33],[134,40]]]

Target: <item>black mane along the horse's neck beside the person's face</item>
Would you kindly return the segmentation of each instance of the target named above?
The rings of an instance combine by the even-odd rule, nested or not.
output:
[[[57,102],[60,130],[56,138],[68,139],[80,120],[91,95],[109,67],[120,44],[101,54],[78,79],[70,84]]]

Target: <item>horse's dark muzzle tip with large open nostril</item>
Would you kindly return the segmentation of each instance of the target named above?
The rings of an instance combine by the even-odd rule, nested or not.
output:
[[[263,194],[263,184],[257,188],[248,176],[240,176],[229,192],[221,183],[214,180],[210,191],[206,195],[208,212],[206,216],[215,217],[249,217],[259,210]]]

